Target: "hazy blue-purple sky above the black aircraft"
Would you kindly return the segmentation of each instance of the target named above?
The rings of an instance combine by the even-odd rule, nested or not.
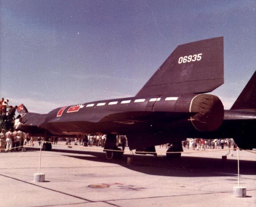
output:
[[[228,109],[256,70],[255,0],[0,0],[0,96],[39,113],[135,96],[179,44],[217,36]]]

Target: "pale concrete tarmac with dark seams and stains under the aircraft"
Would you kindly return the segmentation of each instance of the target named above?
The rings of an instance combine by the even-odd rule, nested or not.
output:
[[[239,151],[240,186],[247,197],[233,195],[238,186],[237,151],[185,149],[180,159],[134,155],[107,160],[101,147],[64,142],[41,152],[40,173],[45,182],[33,181],[39,172],[39,147],[24,152],[0,152],[1,207],[255,207],[256,151]],[[128,147],[127,147],[128,150]],[[186,154],[188,152],[188,154]]]

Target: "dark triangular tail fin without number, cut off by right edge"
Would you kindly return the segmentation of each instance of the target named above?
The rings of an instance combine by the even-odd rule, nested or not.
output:
[[[256,72],[254,72],[231,109],[256,109]]]

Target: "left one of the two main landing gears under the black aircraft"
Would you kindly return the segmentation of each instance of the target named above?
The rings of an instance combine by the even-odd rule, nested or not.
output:
[[[116,135],[107,135],[104,151],[106,152],[106,158],[110,159],[121,159],[124,152],[116,147]]]

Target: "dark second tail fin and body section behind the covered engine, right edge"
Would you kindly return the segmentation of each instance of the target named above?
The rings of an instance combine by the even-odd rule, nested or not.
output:
[[[256,72],[231,109],[224,110],[221,126],[214,132],[200,132],[197,136],[208,139],[233,138],[242,149],[256,148]]]

